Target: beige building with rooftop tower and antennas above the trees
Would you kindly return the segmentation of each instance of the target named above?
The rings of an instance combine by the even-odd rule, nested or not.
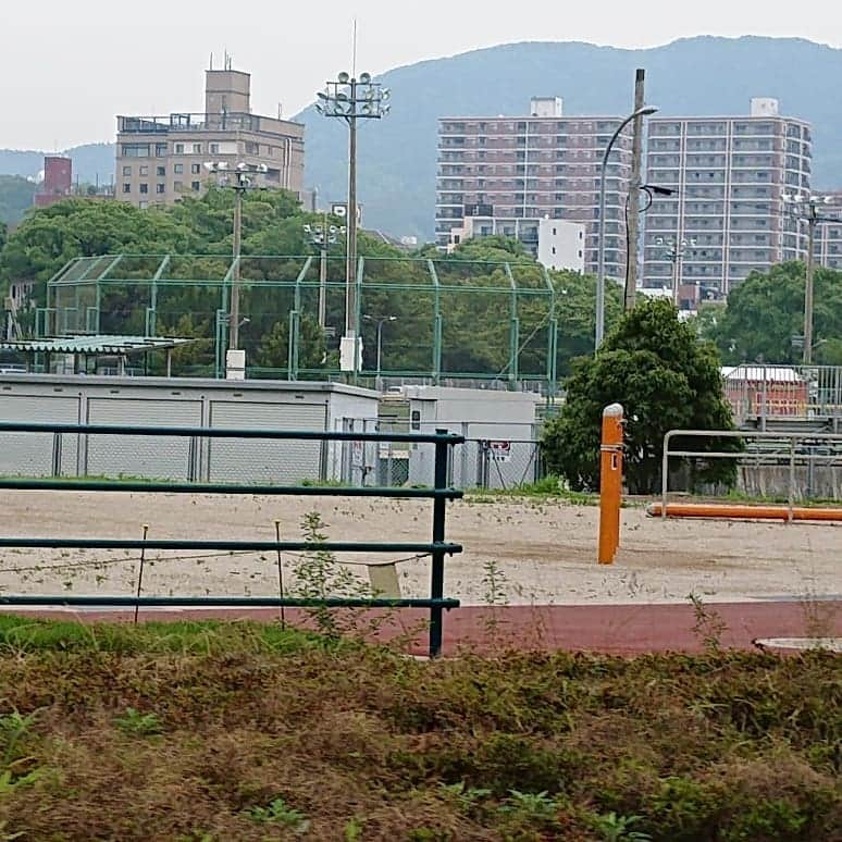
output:
[[[146,208],[199,195],[206,161],[265,164],[261,186],[300,197],[304,126],[252,114],[248,73],[209,70],[205,79],[203,113],[117,117],[116,198]]]

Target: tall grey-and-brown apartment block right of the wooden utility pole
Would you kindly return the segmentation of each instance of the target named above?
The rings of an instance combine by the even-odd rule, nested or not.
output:
[[[671,287],[685,309],[752,271],[806,256],[806,231],[783,202],[809,191],[810,126],[753,99],[748,116],[651,117],[646,181],[676,190],[645,220],[643,284]]]

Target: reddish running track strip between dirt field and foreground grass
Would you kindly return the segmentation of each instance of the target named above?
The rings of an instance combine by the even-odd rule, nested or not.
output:
[[[14,612],[14,611],[11,611]],[[21,614],[18,611],[18,614]],[[376,612],[371,612],[374,615]],[[308,626],[300,609],[286,609],[286,619]],[[723,648],[751,649],[766,637],[842,635],[842,599],[710,603],[699,618],[690,604],[679,605],[544,605],[466,607],[445,614],[446,655],[490,653],[506,648],[600,652],[640,655],[658,652],[701,652],[705,637]],[[84,622],[131,620],[131,611],[26,611],[25,616],[78,618]],[[141,611],[144,620],[248,619],[277,621],[277,609]],[[359,618],[359,615],[358,615]],[[413,654],[426,653],[429,614],[421,609],[392,612],[377,640],[405,636]],[[699,620],[702,622],[699,623]],[[364,617],[357,628],[366,628]]]

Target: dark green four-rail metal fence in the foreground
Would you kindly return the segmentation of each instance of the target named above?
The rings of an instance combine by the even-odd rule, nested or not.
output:
[[[429,608],[429,653],[435,657],[442,652],[444,610],[458,608],[459,600],[444,596],[445,557],[461,553],[462,547],[445,540],[446,504],[458,499],[462,492],[448,487],[448,463],[460,435],[437,430],[435,433],[344,433],[313,431],[281,431],[258,429],[221,429],[187,426],[114,426],[98,424],[41,424],[28,422],[0,423],[3,433],[47,433],[53,436],[76,435],[141,435],[206,438],[287,439],[317,442],[405,442],[434,446],[434,483],[430,488],[334,487],[311,485],[248,485],[234,483],[168,483],[122,480],[32,479],[12,476],[0,479],[0,488],[53,490],[87,492],[148,492],[194,494],[261,494],[275,496],[366,496],[392,498],[426,498],[433,500],[433,529],[430,542],[348,542],[348,541],[191,541],[191,540],[126,540],[75,537],[10,537],[0,536],[0,547],[61,548],[61,549],[159,549],[159,550],[225,550],[225,552],[336,552],[336,553],[400,553],[431,556],[432,578],[430,598],[288,598],[288,597],[128,597],[128,596],[67,596],[65,594],[24,595],[0,594],[0,606],[132,606],[132,607],[357,607],[357,608]]]

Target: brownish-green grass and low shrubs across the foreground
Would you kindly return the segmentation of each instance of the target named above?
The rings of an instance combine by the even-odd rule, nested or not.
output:
[[[0,649],[0,839],[826,840],[842,826],[827,653],[424,664],[277,627],[9,617]]]

